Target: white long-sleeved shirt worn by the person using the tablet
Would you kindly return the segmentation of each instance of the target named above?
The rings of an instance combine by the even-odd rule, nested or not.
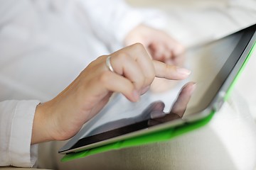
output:
[[[119,0],[0,0],[0,166],[35,164],[31,132],[39,101],[122,47],[139,23],[161,25],[158,13],[144,13]],[[148,22],[149,16],[155,18]]]

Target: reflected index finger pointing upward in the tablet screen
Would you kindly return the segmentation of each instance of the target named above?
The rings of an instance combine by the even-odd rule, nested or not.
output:
[[[174,105],[171,108],[171,113],[179,115],[180,117],[183,116],[195,88],[196,84],[194,82],[189,82],[188,84],[183,86],[180,93],[178,94],[178,98],[176,99]]]

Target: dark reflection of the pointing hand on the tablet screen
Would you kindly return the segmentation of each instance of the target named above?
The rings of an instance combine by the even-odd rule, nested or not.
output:
[[[171,107],[171,111],[168,113],[164,112],[164,102],[162,101],[155,101],[151,103],[141,114],[131,117],[131,118],[123,118],[120,120],[114,120],[99,127],[95,128],[90,132],[90,134],[98,134],[103,130],[109,131],[114,130],[117,128],[121,128],[127,125],[131,125],[139,121],[147,120],[147,125],[154,126],[159,125],[161,123],[169,122],[170,120],[175,120],[177,118],[182,118],[183,114],[186,111],[188,101],[193,94],[193,91],[196,89],[196,84],[194,82],[188,82],[185,84],[181,91],[178,93],[178,97],[174,102],[173,106]]]

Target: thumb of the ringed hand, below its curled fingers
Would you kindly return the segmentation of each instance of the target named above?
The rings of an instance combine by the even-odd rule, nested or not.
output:
[[[123,94],[129,101],[139,101],[139,93],[135,90],[134,84],[129,79],[115,74],[113,72],[105,72],[100,77],[101,84],[104,84],[108,91],[119,92]]]

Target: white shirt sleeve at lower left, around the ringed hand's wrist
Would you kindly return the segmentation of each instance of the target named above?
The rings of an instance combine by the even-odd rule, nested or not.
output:
[[[31,145],[33,118],[39,101],[0,102],[0,166],[32,167],[37,145]]]

